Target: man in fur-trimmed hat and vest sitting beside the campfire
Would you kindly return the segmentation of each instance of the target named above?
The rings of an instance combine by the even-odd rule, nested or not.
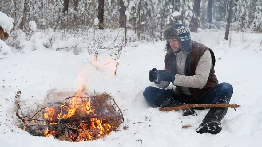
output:
[[[164,31],[167,39],[165,69],[153,68],[149,80],[157,87],[147,87],[145,99],[156,106],[176,107],[183,104],[228,104],[233,87],[228,83],[218,84],[215,75],[215,56],[213,51],[191,40],[188,28],[183,24],[173,24]],[[175,90],[167,89],[169,83]],[[162,89],[160,89],[162,88]],[[211,108],[197,133],[217,134],[222,130],[220,121],[227,108]],[[195,115],[193,109],[184,109],[184,116]]]

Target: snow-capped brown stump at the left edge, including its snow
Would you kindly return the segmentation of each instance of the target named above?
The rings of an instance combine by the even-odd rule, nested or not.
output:
[[[0,39],[6,40],[8,35],[10,35],[11,30],[13,29],[14,19],[8,17],[5,13],[0,11]]]

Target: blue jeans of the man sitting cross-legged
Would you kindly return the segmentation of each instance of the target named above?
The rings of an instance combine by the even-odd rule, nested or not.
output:
[[[169,97],[173,97],[185,104],[229,104],[233,94],[233,87],[228,83],[220,83],[210,89],[200,100],[195,100],[191,95],[183,93],[180,96],[175,96],[169,90],[156,87],[147,87],[143,94],[149,103],[158,107]]]

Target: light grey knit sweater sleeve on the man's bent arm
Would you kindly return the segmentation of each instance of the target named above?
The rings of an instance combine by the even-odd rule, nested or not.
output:
[[[210,69],[212,68],[212,66],[213,64],[212,64],[210,51],[206,50],[204,54],[201,56],[196,66],[196,71],[195,71],[196,74],[193,76],[176,74],[173,83],[176,86],[202,89],[207,83]]]

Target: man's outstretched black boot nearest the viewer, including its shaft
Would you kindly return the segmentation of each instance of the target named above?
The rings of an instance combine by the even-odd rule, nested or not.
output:
[[[228,111],[228,108],[211,108],[205,118],[203,123],[199,125],[196,129],[197,133],[211,133],[217,134],[222,130],[222,124],[220,121],[224,118]]]

